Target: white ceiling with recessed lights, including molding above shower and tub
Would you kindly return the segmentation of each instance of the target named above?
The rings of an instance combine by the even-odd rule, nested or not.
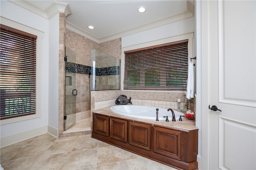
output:
[[[71,14],[66,17],[66,27],[98,43],[194,16],[193,0],[26,0],[25,2],[45,12],[54,2],[67,3]],[[146,12],[139,13],[137,10],[140,6],[144,6]],[[88,25],[93,25],[95,28],[89,29]]]

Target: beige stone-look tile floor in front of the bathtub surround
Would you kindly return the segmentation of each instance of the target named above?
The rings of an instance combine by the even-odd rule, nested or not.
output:
[[[89,135],[46,133],[0,149],[4,170],[175,170]]]

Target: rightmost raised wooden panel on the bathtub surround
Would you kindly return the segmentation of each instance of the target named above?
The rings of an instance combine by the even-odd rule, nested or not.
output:
[[[181,159],[181,132],[154,127],[154,152]]]

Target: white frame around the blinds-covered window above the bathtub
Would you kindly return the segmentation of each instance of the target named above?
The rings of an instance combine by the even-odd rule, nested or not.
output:
[[[161,44],[167,44],[170,42],[176,42],[176,41],[182,41],[184,39],[188,39],[188,61],[190,58],[193,56],[193,38],[194,38],[194,33],[186,33],[182,35],[177,35],[174,37],[168,37],[164,39],[159,39],[155,41],[150,41],[150,42],[145,42],[145,43],[140,43],[136,45],[131,45],[128,47],[122,47],[122,63],[121,63],[121,89],[124,91],[141,91],[141,92],[184,92],[184,90],[164,90],[164,89],[150,89],[150,90],[143,90],[143,89],[124,89],[124,62],[125,62],[125,51],[132,51],[136,49],[143,49],[147,47],[152,47],[152,46],[158,46]]]

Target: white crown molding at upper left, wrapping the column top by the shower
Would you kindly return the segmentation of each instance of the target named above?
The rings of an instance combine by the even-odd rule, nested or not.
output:
[[[65,2],[54,1],[45,10],[42,10],[25,0],[8,0],[8,1],[30,12],[33,12],[34,14],[42,16],[43,18],[46,18],[46,19],[50,19],[58,13],[64,13],[65,16],[69,16],[70,14],[72,14],[70,6],[68,5],[68,3],[65,3]]]

